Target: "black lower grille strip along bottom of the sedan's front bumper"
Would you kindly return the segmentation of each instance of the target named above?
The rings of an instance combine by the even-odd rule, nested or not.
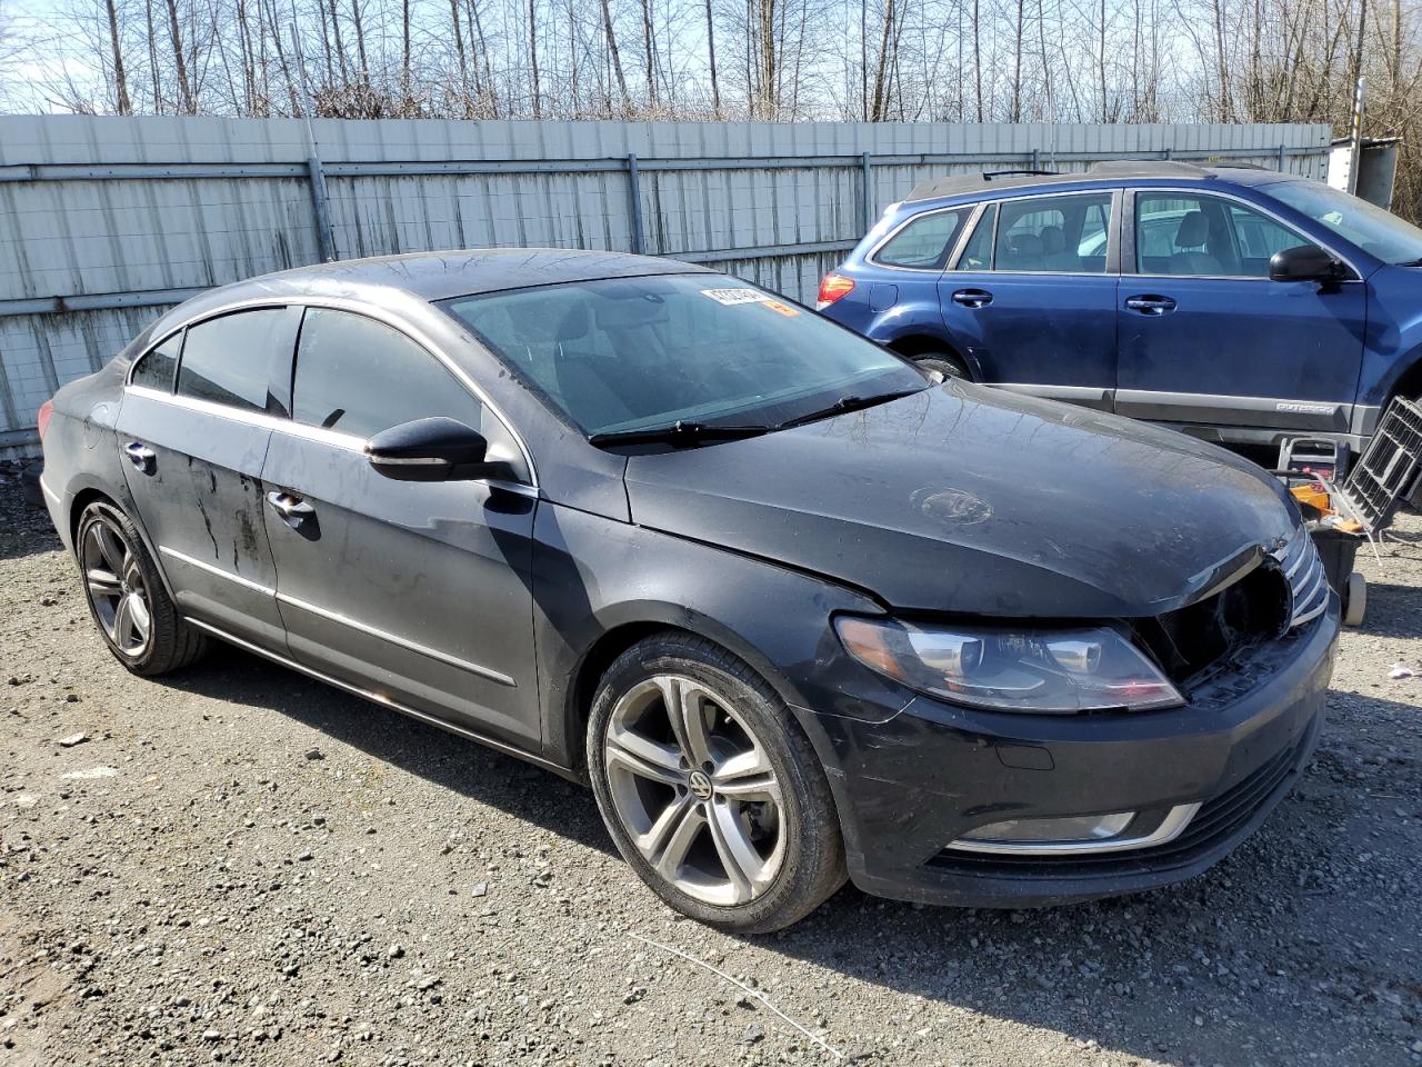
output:
[[[1317,730],[1317,726],[1314,728]],[[1278,753],[1229,790],[1206,801],[1185,832],[1163,845],[1126,852],[1062,856],[1010,856],[946,848],[929,861],[929,866],[981,878],[1031,878],[1044,882],[1189,866],[1237,834],[1261,807],[1283,795],[1311,740],[1313,731],[1297,745]]]

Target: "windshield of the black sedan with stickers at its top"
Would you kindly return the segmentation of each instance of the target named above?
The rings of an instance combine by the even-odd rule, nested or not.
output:
[[[718,275],[579,282],[441,306],[600,440],[677,423],[774,428],[845,397],[929,384],[813,312]]]

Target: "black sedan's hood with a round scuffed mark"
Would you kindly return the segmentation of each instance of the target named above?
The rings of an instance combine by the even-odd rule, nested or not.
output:
[[[634,455],[627,497],[638,525],[894,607],[1018,617],[1158,615],[1295,526],[1280,482],[1220,448],[961,383]]]

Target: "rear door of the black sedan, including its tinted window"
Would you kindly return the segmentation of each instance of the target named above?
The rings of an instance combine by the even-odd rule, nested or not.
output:
[[[189,326],[135,361],[118,414],[124,474],[183,615],[279,650],[262,464],[286,411],[270,394],[300,312],[260,307]]]

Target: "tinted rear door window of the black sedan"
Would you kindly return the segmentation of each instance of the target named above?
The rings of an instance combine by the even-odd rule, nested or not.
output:
[[[266,411],[272,357],[289,344],[284,307],[237,312],[188,327],[178,394]]]

